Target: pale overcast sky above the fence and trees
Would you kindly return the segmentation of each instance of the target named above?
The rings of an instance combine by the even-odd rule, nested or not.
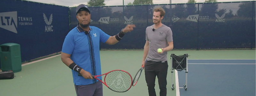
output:
[[[87,4],[90,0],[74,0],[75,2],[72,2],[72,0],[28,0],[28,1],[35,1],[40,3],[47,3],[51,4],[54,3],[56,5],[63,5],[63,6],[77,6],[79,4]],[[134,0],[124,0],[124,5],[127,5],[129,2],[133,2]],[[197,3],[202,3],[205,0],[196,0]],[[218,2],[234,2],[234,1],[252,1],[252,0],[218,0]],[[172,0],[172,4],[177,3],[187,3],[188,0]],[[113,5],[123,5],[123,0],[105,0],[104,2],[107,6],[113,6]],[[153,0],[154,4],[169,4],[170,0]]]

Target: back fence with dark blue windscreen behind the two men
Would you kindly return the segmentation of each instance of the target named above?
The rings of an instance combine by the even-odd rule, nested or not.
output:
[[[119,43],[100,48],[143,49],[156,7],[165,10],[162,23],[172,29],[174,49],[255,48],[255,1],[89,7],[91,26],[111,36],[136,25]],[[78,23],[75,11],[70,8],[71,28]]]

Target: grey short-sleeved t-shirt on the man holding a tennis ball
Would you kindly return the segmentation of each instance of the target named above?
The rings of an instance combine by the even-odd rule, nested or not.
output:
[[[172,30],[166,25],[153,31],[154,25],[146,28],[146,40],[149,42],[149,51],[147,60],[150,61],[166,61],[167,52],[159,54],[158,48],[165,48],[168,46],[167,42],[172,42]]]

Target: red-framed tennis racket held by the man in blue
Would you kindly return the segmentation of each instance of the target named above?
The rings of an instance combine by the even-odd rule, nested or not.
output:
[[[97,78],[103,75],[105,75],[104,82]],[[82,74],[78,73],[78,76],[82,76]],[[126,92],[132,87],[132,76],[124,70],[112,70],[102,75],[91,76],[114,92]]]

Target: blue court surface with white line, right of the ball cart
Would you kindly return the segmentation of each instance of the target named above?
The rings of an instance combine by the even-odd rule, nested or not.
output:
[[[255,59],[188,59],[188,89],[182,70],[175,71],[179,82],[173,91],[176,96],[255,96],[255,63]]]

